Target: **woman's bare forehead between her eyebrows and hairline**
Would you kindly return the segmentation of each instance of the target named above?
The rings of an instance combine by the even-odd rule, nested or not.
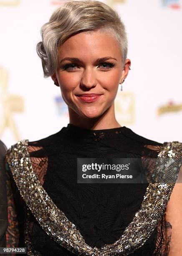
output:
[[[86,31],[68,38],[59,49],[59,56],[114,56],[121,57],[120,46],[108,32]],[[73,56],[74,55],[74,56]]]

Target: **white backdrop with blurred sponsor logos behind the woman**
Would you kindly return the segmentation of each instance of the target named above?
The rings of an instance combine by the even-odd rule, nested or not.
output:
[[[103,0],[123,20],[131,70],[116,118],[140,136],[182,141],[182,1]],[[0,0],[0,139],[35,141],[69,123],[59,87],[43,78],[40,28],[63,0]]]

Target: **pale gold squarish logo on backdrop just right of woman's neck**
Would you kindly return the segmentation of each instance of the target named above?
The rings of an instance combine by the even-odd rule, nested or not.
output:
[[[115,99],[116,119],[124,125],[131,125],[135,121],[135,97],[132,92],[118,93]]]

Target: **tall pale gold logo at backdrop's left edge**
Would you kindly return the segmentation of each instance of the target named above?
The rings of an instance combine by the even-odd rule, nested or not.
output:
[[[24,101],[20,95],[8,92],[9,72],[0,66],[0,137],[9,128],[16,141],[20,140],[13,113],[24,111]]]

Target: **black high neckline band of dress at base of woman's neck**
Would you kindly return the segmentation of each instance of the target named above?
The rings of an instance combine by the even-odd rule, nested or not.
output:
[[[77,125],[73,125],[71,123],[68,123],[66,130],[68,131],[80,131],[80,132],[86,132],[86,133],[112,133],[112,132],[116,132],[116,131],[121,131],[121,130],[125,130],[128,129],[126,126],[121,126],[121,127],[116,127],[116,128],[108,128],[108,129],[100,129],[100,130],[91,130],[91,129],[86,129],[86,128],[82,128],[80,126]]]

